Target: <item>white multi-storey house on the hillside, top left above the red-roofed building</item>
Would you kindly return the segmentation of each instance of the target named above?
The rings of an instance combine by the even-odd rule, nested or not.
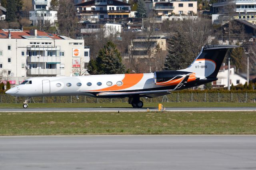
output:
[[[30,11],[29,20],[33,25],[44,26],[46,24],[54,24],[57,18],[57,11],[50,11],[51,0],[33,0],[34,11]]]

